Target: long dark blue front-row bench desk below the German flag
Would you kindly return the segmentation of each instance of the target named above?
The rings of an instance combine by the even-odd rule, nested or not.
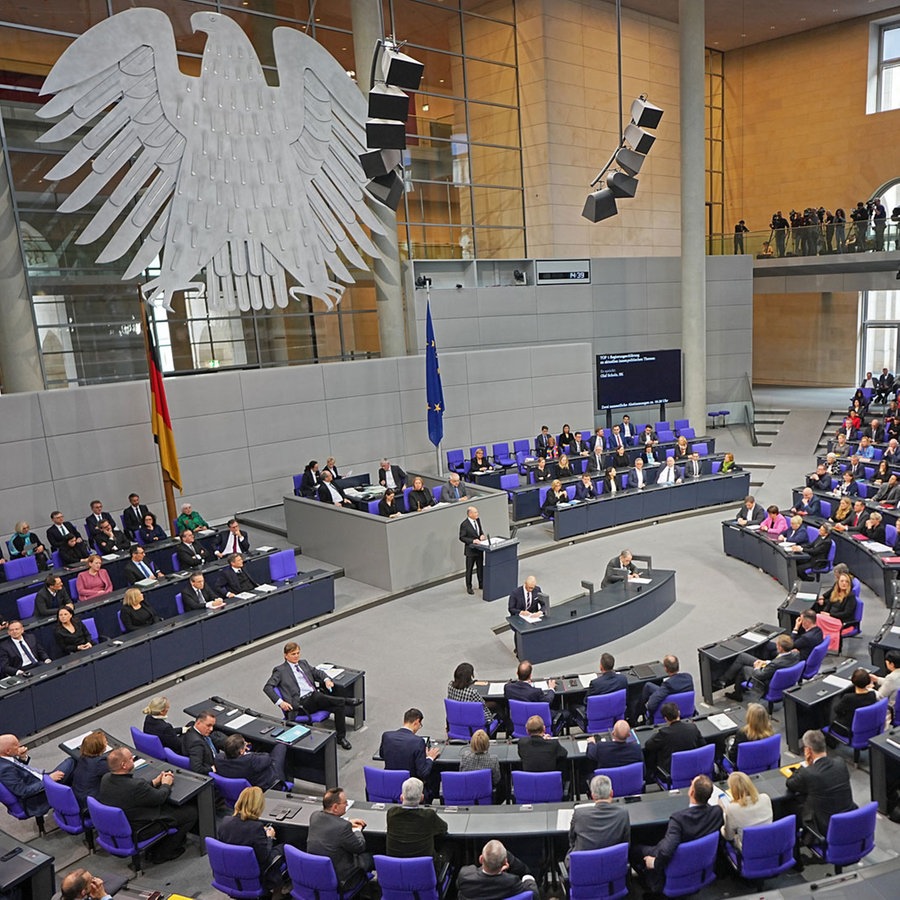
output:
[[[259,562],[268,568],[267,559]],[[90,650],[37,666],[29,678],[5,678],[0,682],[0,715],[16,722],[18,733],[32,734],[172,672],[332,611],[333,575],[322,572],[306,578],[299,576],[273,592],[256,591],[247,599],[231,598],[220,609],[173,615],[117,635]]]

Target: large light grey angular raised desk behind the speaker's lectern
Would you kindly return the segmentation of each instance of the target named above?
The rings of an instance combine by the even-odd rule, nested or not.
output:
[[[409,473],[410,480],[416,473]],[[422,475],[430,490],[443,484]],[[391,593],[461,575],[464,569],[459,526],[469,506],[477,506],[487,535],[509,537],[506,491],[472,488],[468,501],[440,503],[396,519],[286,496],[288,540],[316,559],[341,566],[349,578]]]

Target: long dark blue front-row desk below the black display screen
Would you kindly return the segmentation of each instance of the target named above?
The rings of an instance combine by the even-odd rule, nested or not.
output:
[[[703,475],[683,484],[651,484],[604,494],[596,500],[563,503],[553,516],[553,538],[560,541],[644,519],[657,519],[704,506],[737,501],[747,495],[750,473]]]

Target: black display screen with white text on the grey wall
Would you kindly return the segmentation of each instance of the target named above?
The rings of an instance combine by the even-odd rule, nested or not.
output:
[[[597,408],[681,403],[681,351],[597,354]]]

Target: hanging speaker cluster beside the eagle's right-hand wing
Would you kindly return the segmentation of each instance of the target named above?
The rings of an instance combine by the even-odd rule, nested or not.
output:
[[[379,41],[372,59],[372,90],[366,119],[365,153],[359,161],[369,179],[366,190],[396,211],[403,196],[407,91],[417,91],[425,66],[401,52],[392,40]]]

